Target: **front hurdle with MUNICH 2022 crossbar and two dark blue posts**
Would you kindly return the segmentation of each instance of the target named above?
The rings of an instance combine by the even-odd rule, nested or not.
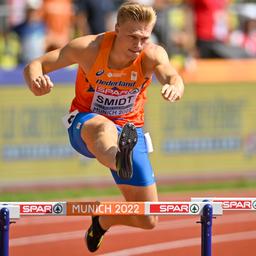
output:
[[[9,226],[22,216],[199,215],[201,256],[211,256],[212,219],[220,202],[0,202],[0,256],[9,256]]]

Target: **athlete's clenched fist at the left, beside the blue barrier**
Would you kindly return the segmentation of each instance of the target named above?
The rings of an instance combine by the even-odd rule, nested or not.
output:
[[[48,94],[53,86],[53,82],[49,76],[41,75],[31,81],[30,90],[35,96],[42,96]]]

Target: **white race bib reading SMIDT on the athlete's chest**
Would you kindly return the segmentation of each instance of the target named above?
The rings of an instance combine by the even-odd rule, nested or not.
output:
[[[119,116],[131,112],[139,94],[138,88],[118,90],[98,86],[95,89],[91,110],[107,116]]]

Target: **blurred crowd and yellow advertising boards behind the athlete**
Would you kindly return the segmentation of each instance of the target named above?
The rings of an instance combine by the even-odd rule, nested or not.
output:
[[[72,38],[113,30],[122,0],[0,0],[0,197],[7,192],[113,185],[106,168],[69,145],[61,117],[76,66],[50,74],[34,97],[24,65]],[[182,74],[186,92],[167,104],[154,82],[145,132],[159,185],[255,183],[256,1],[141,0],[154,6],[152,40]]]

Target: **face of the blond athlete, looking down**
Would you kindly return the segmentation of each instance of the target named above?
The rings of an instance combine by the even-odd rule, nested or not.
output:
[[[126,21],[116,25],[117,42],[129,58],[136,58],[149,42],[154,25]]]

